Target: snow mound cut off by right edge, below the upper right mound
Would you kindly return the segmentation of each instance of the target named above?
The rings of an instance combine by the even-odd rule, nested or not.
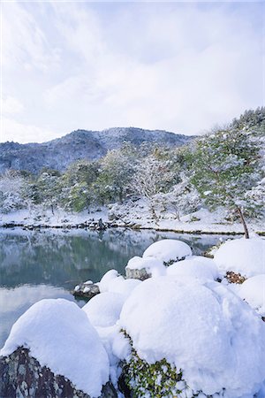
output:
[[[265,274],[256,275],[242,283],[239,296],[265,317]]]

